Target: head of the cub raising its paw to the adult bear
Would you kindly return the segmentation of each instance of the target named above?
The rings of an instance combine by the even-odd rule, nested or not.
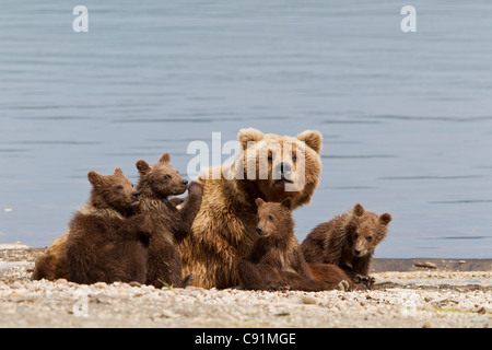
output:
[[[169,164],[169,153],[164,153],[159,163],[149,165],[145,161],[138,161],[137,168],[140,179],[137,188],[148,198],[167,198],[178,196],[188,188],[188,180],[179,176]]]

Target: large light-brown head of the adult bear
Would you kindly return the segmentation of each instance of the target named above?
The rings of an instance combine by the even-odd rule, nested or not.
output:
[[[239,130],[238,141],[237,179],[255,182],[258,195],[268,201],[291,198],[293,209],[309,202],[321,173],[323,137],[318,131],[289,137],[249,128]]]

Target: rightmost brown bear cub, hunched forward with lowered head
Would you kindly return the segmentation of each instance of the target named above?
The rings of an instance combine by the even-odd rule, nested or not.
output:
[[[387,234],[391,215],[380,217],[361,205],[317,225],[301,244],[307,262],[335,264],[353,280],[367,277],[376,246]]]

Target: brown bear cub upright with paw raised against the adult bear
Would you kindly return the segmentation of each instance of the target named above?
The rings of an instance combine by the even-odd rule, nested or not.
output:
[[[162,288],[165,284],[184,288],[192,280],[189,273],[181,276],[181,256],[175,247],[175,242],[183,241],[190,230],[195,217],[201,205],[201,186],[188,182],[179,176],[169,164],[169,153],[164,153],[159,163],[149,165],[145,161],[138,161],[137,168],[140,180],[137,189],[142,195],[141,211],[145,212],[154,223],[154,231],[149,240],[149,258],[147,283]],[[181,209],[174,203],[181,199],[169,196],[181,195],[188,189]]]

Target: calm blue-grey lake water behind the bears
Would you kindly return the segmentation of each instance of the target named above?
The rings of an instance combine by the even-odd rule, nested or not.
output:
[[[168,151],[186,174],[191,141],[255,127],[324,135],[300,240],[361,202],[394,217],[376,257],[492,257],[491,1],[0,8],[0,242],[65,233],[90,170],[136,180],[137,160]]]

